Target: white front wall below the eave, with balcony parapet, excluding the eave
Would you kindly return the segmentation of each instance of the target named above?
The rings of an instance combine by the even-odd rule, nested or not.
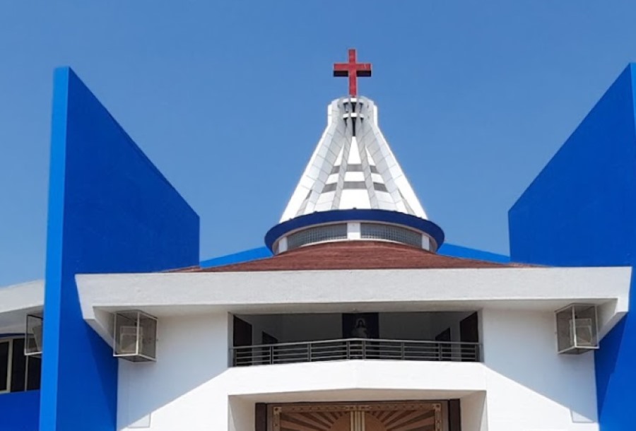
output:
[[[481,315],[484,363],[229,369],[228,314],[160,319],[158,361],[121,362],[119,430],[253,431],[257,402],[460,398],[466,431],[598,431],[593,355],[557,355],[552,313]]]

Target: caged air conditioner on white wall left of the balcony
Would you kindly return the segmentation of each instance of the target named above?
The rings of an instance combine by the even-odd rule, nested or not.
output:
[[[157,318],[139,310],[114,313],[113,356],[132,362],[157,359]]]

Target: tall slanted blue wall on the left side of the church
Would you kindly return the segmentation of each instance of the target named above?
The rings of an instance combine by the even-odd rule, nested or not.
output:
[[[40,430],[116,426],[117,360],[82,319],[75,274],[198,261],[199,216],[75,73],[57,69]]]

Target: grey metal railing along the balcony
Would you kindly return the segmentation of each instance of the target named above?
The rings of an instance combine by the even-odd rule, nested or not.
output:
[[[479,343],[375,338],[240,346],[230,355],[234,367],[348,359],[478,362],[480,356]]]

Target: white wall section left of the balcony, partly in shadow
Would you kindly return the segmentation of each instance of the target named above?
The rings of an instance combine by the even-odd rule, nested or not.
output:
[[[157,362],[119,361],[118,430],[225,430],[228,314],[160,319]],[[206,384],[208,386],[206,386]]]

